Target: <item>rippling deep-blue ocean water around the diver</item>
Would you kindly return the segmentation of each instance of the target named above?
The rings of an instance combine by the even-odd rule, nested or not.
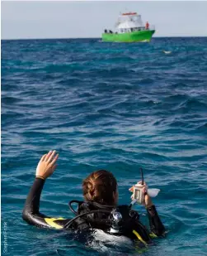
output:
[[[129,204],[143,167],[148,186],[161,189],[153,202],[167,237],[140,252],[98,231],[84,244],[27,225],[35,167],[52,149],[59,166],[42,213],[73,217],[68,201],[82,200],[82,179],[101,168]],[[207,38],[2,41],[2,254],[207,255],[206,198]]]

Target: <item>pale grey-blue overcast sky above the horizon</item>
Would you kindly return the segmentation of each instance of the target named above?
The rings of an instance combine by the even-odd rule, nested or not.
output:
[[[154,36],[207,36],[207,2],[2,2],[2,39],[101,37],[120,12],[155,25]]]

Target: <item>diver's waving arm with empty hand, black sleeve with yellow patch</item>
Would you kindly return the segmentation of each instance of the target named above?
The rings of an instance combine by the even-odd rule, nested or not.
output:
[[[40,162],[36,168],[36,177],[31,190],[26,198],[25,207],[22,212],[23,220],[26,220],[30,225],[36,225],[47,229],[63,229],[64,224],[68,220],[63,218],[51,218],[40,213],[40,196],[45,179],[54,172],[57,167],[56,162],[59,155],[55,151],[50,151],[41,157]]]

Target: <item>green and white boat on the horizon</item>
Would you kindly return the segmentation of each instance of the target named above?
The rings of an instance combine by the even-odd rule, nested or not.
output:
[[[102,41],[137,42],[151,41],[155,27],[146,22],[145,26],[141,15],[137,12],[121,13],[115,23],[115,32],[106,30],[102,33]]]

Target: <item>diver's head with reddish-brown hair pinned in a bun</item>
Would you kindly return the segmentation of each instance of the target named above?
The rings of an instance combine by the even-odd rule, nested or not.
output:
[[[92,172],[82,182],[82,191],[85,200],[101,205],[116,205],[118,201],[117,182],[110,171]]]

